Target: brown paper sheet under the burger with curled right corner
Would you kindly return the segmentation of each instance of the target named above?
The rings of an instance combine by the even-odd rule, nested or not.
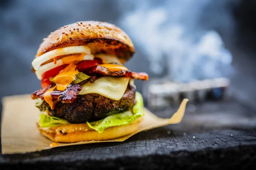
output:
[[[108,141],[58,143],[57,147],[98,142],[122,142],[144,130],[180,123],[187,101],[188,99],[183,99],[180,108],[170,119],[159,118],[145,108],[145,117],[140,122],[139,129],[128,136]],[[38,120],[40,112],[35,107],[35,102],[30,95],[7,96],[3,98],[2,103],[2,154],[28,153],[52,148],[49,145],[53,142],[42,136],[36,128],[35,122]]]

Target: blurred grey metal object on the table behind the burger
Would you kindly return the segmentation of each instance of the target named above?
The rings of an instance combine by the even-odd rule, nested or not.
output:
[[[223,99],[229,85],[230,80],[223,77],[188,83],[154,81],[148,83],[143,94],[146,96],[148,107],[155,109],[179,105],[184,98],[190,102]]]

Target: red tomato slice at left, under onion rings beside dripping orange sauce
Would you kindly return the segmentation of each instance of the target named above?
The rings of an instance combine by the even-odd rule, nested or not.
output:
[[[49,71],[46,71],[43,75],[42,75],[42,80],[41,80],[41,86],[42,88],[46,88],[48,85],[52,84],[52,82],[49,80],[50,77],[55,77],[57,74],[59,74],[59,72],[61,70],[63,70],[64,68],[66,68],[67,65],[60,65],[58,67],[52,68]]]

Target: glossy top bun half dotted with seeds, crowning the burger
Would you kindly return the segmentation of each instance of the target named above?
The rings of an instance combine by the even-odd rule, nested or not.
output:
[[[122,63],[134,54],[134,45],[119,27],[99,21],[79,21],[61,28],[44,38],[35,58],[58,48],[86,45],[92,54],[106,53],[119,57]]]

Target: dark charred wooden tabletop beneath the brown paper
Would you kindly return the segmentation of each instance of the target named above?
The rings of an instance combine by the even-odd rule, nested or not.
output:
[[[125,142],[1,155],[0,167],[221,169],[248,168],[256,164],[256,118],[253,116],[253,109],[236,100],[207,102],[196,105],[195,110],[191,107],[193,108],[191,104],[188,105],[180,124],[138,133]],[[169,108],[155,113],[169,117],[174,110]]]

